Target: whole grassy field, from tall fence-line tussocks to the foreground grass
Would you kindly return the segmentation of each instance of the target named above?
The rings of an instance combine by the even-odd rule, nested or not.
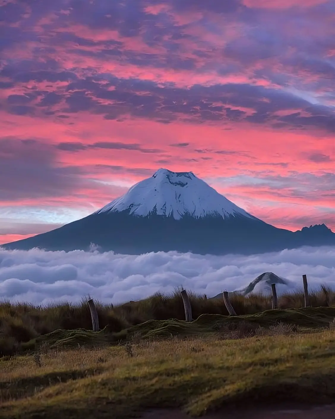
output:
[[[330,290],[312,294],[309,308],[299,308],[302,293],[282,296],[281,310],[266,310],[262,295],[231,302],[239,316],[227,316],[220,298],[191,294],[192,322],[183,321],[178,290],[97,303],[98,332],[85,301],[3,303],[0,417],[125,418],[169,406],[201,415],[241,401],[333,401]]]

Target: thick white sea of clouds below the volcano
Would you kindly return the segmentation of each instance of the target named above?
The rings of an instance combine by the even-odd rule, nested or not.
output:
[[[321,284],[335,289],[335,247],[306,247],[253,256],[177,252],[129,256],[96,250],[0,248],[0,300],[75,303],[90,295],[104,303],[118,304],[157,291],[171,292],[180,285],[211,297],[245,287],[263,272],[289,279],[296,288],[301,288],[302,274],[307,274],[310,289]]]

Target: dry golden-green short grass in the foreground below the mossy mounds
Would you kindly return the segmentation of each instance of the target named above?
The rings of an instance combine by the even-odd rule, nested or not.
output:
[[[0,417],[125,418],[155,406],[202,414],[243,400],[331,401],[335,331],[299,334],[289,325],[239,336],[140,340],[50,350],[0,360]]]

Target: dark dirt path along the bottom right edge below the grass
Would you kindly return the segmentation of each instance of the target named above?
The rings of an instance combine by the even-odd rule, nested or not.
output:
[[[221,410],[203,417],[204,419],[335,419],[335,404],[310,408],[281,405],[266,409]],[[191,419],[191,416],[176,409],[155,409],[145,412],[142,419]]]

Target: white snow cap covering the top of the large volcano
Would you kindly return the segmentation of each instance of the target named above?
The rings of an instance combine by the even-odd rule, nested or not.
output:
[[[185,214],[195,218],[208,215],[254,218],[192,172],[172,172],[163,168],[152,177],[131,186],[126,194],[114,199],[97,213],[125,210],[139,216],[156,213],[176,220]]]

